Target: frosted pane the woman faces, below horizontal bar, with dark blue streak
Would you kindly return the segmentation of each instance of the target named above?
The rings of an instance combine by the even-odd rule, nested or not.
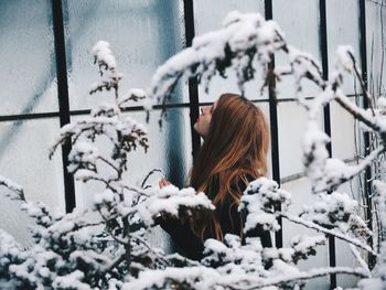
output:
[[[128,116],[144,125],[148,129],[149,149],[144,153],[142,148],[128,154],[128,172],[125,181],[128,184],[140,186],[147,174],[153,169],[160,169],[163,173],[154,173],[147,185],[157,186],[161,178],[169,179],[178,186],[187,184],[187,174],[192,167],[192,140],[189,119],[189,109],[169,109],[163,120],[162,129],[158,121],[160,110],[150,115],[150,122],[146,123],[146,112],[132,111]],[[74,120],[81,117],[74,118]],[[97,141],[100,151],[108,149],[109,142],[104,139]],[[76,182],[76,203],[81,207],[87,207],[93,202],[94,193],[104,190],[103,184]]]

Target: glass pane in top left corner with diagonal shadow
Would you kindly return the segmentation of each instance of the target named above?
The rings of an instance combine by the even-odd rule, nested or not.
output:
[[[0,115],[57,110],[50,1],[0,1]]]

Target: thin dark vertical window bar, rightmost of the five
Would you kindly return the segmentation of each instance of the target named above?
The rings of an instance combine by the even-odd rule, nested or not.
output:
[[[362,77],[365,83],[366,90],[368,89],[367,84],[367,45],[366,45],[366,1],[365,0],[358,0],[360,1],[360,31],[361,31],[361,39],[360,39],[360,50],[361,50],[361,69],[362,69]],[[365,108],[368,108],[369,104],[366,98],[364,98],[363,106]],[[365,143],[365,153],[368,154],[371,150],[371,141],[369,141],[369,133],[364,133],[364,143]],[[369,167],[366,168],[365,172],[365,195],[366,195],[366,221],[367,226],[369,229],[373,230],[373,198],[372,198],[372,169]],[[368,246],[373,247],[373,236],[368,236],[367,238]],[[373,269],[376,262],[376,258],[373,255],[368,256],[368,267],[369,269]]]

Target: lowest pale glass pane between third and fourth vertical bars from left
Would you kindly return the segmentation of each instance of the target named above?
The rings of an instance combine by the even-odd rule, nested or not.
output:
[[[318,201],[318,196],[311,193],[310,181],[305,178],[297,179],[291,182],[283,183],[282,189],[290,192],[292,195],[292,205],[289,208],[289,213],[299,214],[304,205],[311,205]],[[282,235],[283,235],[283,246],[288,246],[290,240],[296,235],[309,235],[317,236],[320,235],[315,230],[308,229],[303,226],[289,223],[286,219],[282,221]],[[310,270],[314,268],[328,267],[329,266],[329,251],[328,246],[319,246],[317,248],[317,255],[311,256],[307,260],[299,262],[299,268],[301,270]],[[330,289],[330,278],[321,277],[318,279],[312,279],[307,283],[305,289]]]

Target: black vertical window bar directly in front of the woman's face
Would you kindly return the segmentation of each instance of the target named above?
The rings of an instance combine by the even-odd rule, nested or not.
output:
[[[186,47],[192,46],[194,39],[194,10],[193,0],[184,0],[184,20],[185,20],[185,37]],[[193,126],[199,118],[199,80],[196,77],[189,79],[189,100],[190,100],[190,117],[192,132],[192,154],[193,160],[199,154],[201,148],[200,135],[194,130]]]

